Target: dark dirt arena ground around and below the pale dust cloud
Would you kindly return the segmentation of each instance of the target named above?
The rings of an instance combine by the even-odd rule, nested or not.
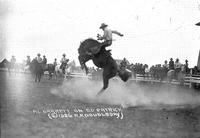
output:
[[[35,83],[27,74],[8,76],[0,72],[1,138],[200,138],[200,105],[122,108],[51,93],[60,86],[62,80],[45,78]],[[65,109],[73,115],[74,109],[94,109],[97,113],[97,109],[107,108],[118,109],[120,117],[50,114],[51,118],[45,112]]]

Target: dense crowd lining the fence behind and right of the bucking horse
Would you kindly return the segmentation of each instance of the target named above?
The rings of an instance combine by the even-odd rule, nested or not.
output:
[[[185,60],[185,63],[181,63],[178,58],[175,60],[175,62],[173,58],[170,58],[169,62],[165,60],[163,64],[156,64],[149,67],[149,65],[147,64],[129,63],[129,61],[124,58],[120,62],[120,67],[131,70],[134,77],[136,77],[136,75],[142,75],[144,77],[152,77],[158,80],[163,80],[164,78],[166,78],[167,72],[169,70],[174,70],[175,75],[181,70],[184,71],[186,75],[189,75],[191,73],[192,75],[200,75],[200,69],[198,69],[197,66],[195,66],[194,68],[189,68],[188,64],[189,63],[187,59]],[[91,68],[90,71],[95,75],[101,75],[102,72],[102,70],[98,68]]]

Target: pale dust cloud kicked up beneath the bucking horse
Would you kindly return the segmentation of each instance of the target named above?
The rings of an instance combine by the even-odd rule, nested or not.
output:
[[[140,86],[136,83],[124,83],[110,80],[109,87],[100,96],[102,81],[72,79],[64,81],[51,93],[62,98],[68,97],[84,103],[102,103],[127,107],[159,108],[163,106],[181,107],[200,105],[200,94],[189,89],[171,86]]]

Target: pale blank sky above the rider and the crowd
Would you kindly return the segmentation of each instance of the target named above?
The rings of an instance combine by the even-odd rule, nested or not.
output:
[[[113,35],[112,56],[132,63],[163,64],[179,58],[197,64],[200,0],[0,0],[0,60],[46,55],[48,63],[66,53],[78,63],[78,47],[102,34]],[[88,63],[93,66],[92,62]]]

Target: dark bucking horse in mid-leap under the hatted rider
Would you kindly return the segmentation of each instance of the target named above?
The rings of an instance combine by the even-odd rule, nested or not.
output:
[[[92,54],[88,54],[88,52]],[[88,74],[86,62],[92,60],[94,65],[103,69],[103,88],[98,93],[101,94],[109,84],[109,79],[118,75],[124,82],[130,77],[131,73],[127,70],[122,70],[112,58],[110,50],[106,50],[102,43],[92,38],[86,39],[81,42],[78,48],[78,59],[82,69],[85,69]]]

